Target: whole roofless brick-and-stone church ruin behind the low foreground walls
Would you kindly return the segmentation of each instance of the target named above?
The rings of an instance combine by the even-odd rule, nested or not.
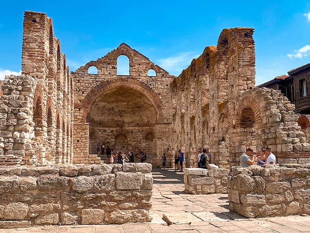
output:
[[[173,164],[183,149],[191,167],[209,148],[227,169],[262,146],[280,164],[310,162],[309,117],[295,115],[279,91],[255,88],[252,28],[224,29],[178,77],[125,43],[69,74],[51,18],[25,12],[23,29],[22,75],[0,83],[0,165],[101,164],[103,141],[139,147],[153,166],[163,153]]]

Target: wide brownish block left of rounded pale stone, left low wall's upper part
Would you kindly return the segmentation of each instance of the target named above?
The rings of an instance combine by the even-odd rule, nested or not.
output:
[[[52,177],[52,176],[38,177],[39,190],[65,189],[68,188],[68,186],[69,186],[68,177]]]

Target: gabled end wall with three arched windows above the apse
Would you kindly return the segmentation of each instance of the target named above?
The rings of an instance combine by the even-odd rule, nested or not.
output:
[[[129,75],[117,74],[117,59],[120,55],[129,59]],[[88,73],[89,67],[96,67],[97,74]],[[155,76],[148,76],[150,69],[155,71]],[[159,166],[162,154],[170,153],[167,152],[170,148],[170,129],[167,125],[171,122],[171,102],[167,89],[173,76],[125,43],[102,58],[78,68],[72,75],[75,82],[74,123],[77,127],[74,135],[74,163],[88,160],[94,145],[103,141],[106,145],[109,141],[112,149],[121,149],[115,148],[114,142],[115,137],[122,133],[128,138],[128,145],[122,148],[126,153],[129,149],[139,147],[148,154],[148,162]],[[135,113],[122,105],[122,97],[128,99],[129,96],[132,98],[131,103],[136,104],[132,106],[137,108]],[[114,105],[111,102],[102,104],[100,98],[103,101],[114,98],[116,102]],[[143,106],[145,111],[140,113],[139,108]],[[141,114],[144,119],[140,119]],[[114,118],[106,122],[104,119],[109,115],[114,115]],[[153,116],[155,120],[143,123]],[[148,132],[154,135],[149,137],[146,135]],[[84,136],[85,133],[88,136]]]

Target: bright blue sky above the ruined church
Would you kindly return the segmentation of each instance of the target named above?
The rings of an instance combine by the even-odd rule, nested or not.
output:
[[[173,75],[224,28],[253,27],[256,84],[310,62],[310,1],[2,1],[0,79],[21,69],[24,11],[52,17],[70,70],[125,42]]]

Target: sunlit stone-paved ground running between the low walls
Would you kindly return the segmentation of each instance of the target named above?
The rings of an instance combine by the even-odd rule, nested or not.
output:
[[[248,219],[229,212],[226,194],[185,194],[182,173],[154,169],[153,177],[151,223],[42,226],[0,233],[310,233],[310,216]]]

